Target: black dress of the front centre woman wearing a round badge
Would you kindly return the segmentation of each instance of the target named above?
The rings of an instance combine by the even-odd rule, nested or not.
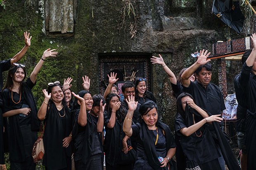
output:
[[[136,137],[139,141],[137,144],[137,157],[133,170],[168,170],[167,166],[163,168],[160,167],[161,164],[158,161],[158,157],[161,156],[165,158],[168,150],[170,148],[175,148],[176,144],[168,126],[166,126],[164,123],[161,123],[161,125],[165,126],[165,130],[163,130],[163,126],[160,125],[158,126],[157,130],[148,130],[144,122],[142,124],[136,123],[135,125],[132,125],[132,136]],[[145,126],[145,128],[143,129],[142,126]],[[156,142],[157,134],[159,137]],[[168,144],[166,135],[169,137]],[[145,136],[147,139],[145,139]],[[153,148],[148,147],[150,144],[153,145]],[[148,152],[148,150],[150,151]],[[152,154],[154,152],[156,153],[155,157],[154,154]],[[152,159],[156,160],[156,163],[158,163],[154,167],[152,166]],[[175,169],[175,165],[173,165],[175,162],[172,160],[170,163],[171,169]]]

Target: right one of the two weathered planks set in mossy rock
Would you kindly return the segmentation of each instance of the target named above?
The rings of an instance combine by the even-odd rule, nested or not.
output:
[[[73,0],[62,0],[62,34],[73,33]]]

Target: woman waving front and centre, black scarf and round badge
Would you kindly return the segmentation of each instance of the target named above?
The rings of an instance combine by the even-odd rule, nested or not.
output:
[[[129,101],[128,101],[129,100]],[[171,170],[176,169],[175,140],[169,127],[158,120],[156,103],[147,101],[140,106],[140,123],[132,125],[133,112],[137,102],[128,97],[129,110],[123,123],[127,136],[137,137],[137,158],[133,170]]]

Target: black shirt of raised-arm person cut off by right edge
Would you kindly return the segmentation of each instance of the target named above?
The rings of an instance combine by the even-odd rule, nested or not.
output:
[[[247,107],[250,112],[254,113],[256,112],[256,75],[251,73],[251,69],[252,66],[247,66],[245,62],[239,77],[239,83],[246,95]]]

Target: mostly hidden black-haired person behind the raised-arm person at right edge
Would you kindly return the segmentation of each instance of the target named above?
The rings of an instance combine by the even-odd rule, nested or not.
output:
[[[244,65],[245,61],[251,54],[251,50],[247,50],[242,57],[242,64]],[[246,151],[246,113],[247,113],[247,96],[243,91],[242,86],[240,86],[239,79],[241,76],[241,72],[234,79],[234,87],[236,98],[238,102],[237,106],[237,143],[239,149],[242,150],[242,154],[240,156],[241,169],[247,170],[247,151]]]

